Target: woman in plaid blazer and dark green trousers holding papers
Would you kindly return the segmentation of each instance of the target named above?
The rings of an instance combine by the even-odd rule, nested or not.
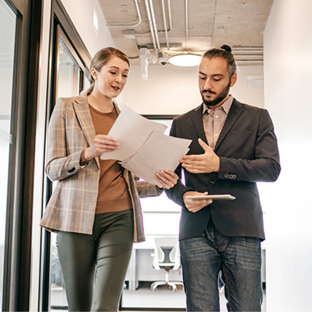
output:
[[[119,114],[113,101],[123,90],[129,59],[105,48],[91,62],[91,87],[58,100],[48,131],[46,173],[57,186],[41,226],[57,232],[58,253],[70,312],[118,310],[133,241],[144,240],[139,197],[162,189],[139,182],[116,160],[100,160],[119,148],[108,132]],[[163,188],[178,176],[156,174]]]

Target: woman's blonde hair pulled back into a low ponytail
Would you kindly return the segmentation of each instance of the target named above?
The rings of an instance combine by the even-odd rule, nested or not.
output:
[[[111,58],[115,56],[125,61],[130,67],[130,61],[129,61],[128,56],[123,51],[110,46],[110,47],[101,49],[95,53],[95,56],[93,57],[91,64],[90,64],[90,70],[91,68],[95,68],[97,71],[100,71],[101,68],[104,65],[106,65],[107,62]],[[90,81],[91,81],[91,85],[87,91],[87,94],[90,94],[93,91],[94,83],[95,83],[95,80],[92,77],[91,73],[90,73]]]

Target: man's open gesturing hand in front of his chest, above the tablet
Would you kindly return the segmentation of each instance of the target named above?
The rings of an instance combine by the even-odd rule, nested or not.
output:
[[[190,173],[211,173],[220,170],[220,158],[202,139],[198,143],[205,151],[199,155],[185,155],[180,159],[182,167]]]

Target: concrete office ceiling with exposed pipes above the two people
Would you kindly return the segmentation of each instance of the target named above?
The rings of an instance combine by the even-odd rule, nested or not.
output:
[[[228,44],[241,64],[262,64],[263,31],[274,0],[99,0],[116,46],[139,64]],[[165,18],[164,18],[165,14]],[[164,23],[166,21],[166,25]],[[156,29],[156,32],[155,32]],[[165,32],[167,29],[167,32]],[[153,39],[154,37],[154,39]],[[154,56],[155,57],[154,57]]]

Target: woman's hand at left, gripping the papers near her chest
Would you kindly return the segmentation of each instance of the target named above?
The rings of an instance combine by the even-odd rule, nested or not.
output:
[[[100,156],[102,153],[113,152],[116,149],[119,149],[119,143],[115,138],[98,134],[94,137],[92,145],[85,149],[85,160],[89,161],[92,158]]]

